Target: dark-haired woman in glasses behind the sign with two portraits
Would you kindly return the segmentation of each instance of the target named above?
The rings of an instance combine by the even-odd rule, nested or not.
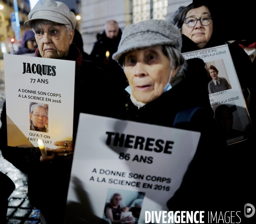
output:
[[[192,3],[175,15],[173,22],[180,28],[182,34],[181,52],[196,51],[202,48],[228,44],[244,98],[247,100],[249,96],[247,88],[251,92],[253,90],[252,84],[255,83],[252,80],[252,63],[250,58],[237,42],[230,44],[223,40],[222,35],[218,34],[218,32],[215,33],[213,19],[214,16],[210,7],[203,3]]]

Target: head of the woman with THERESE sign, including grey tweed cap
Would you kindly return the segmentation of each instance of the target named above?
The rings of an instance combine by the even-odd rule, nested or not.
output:
[[[123,66],[129,82],[126,91],[138,107],[168,91],[171,79],[183,74],[181,41],[178,28],[164,20],[146,20],[125,28],[113,59]]]

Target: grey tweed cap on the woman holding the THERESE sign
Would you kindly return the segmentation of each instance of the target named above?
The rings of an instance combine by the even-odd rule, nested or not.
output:
[[[182,38],[179,29],[166,20],[134,23],[125,27],[118,50],[112,58],[119,62],[120,57],[129,51],[157,45],[172,45],[180,51]]]

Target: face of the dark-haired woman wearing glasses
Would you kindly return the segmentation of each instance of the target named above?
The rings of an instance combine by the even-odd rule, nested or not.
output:
[[[188,17],[195,17],[197,19],[203,16],[210,16],[209,9],[205,6],[201,6],[197,9],[191,9],[187,14]],[[213,22],[212,22],[213,23]],[[209,26],[203,26],[200,21],[196,23],[193,27],[188,27],[184,22],[181,29],[181,34],[189,37],[193,42],[197,44],[199,48],[203,48],[210,38],[212,37],[213,25],[212,23]]]

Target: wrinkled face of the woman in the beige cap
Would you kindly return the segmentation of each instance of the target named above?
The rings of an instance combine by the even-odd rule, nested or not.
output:
[[[41,28],[35,30],[39,52],[45,58],[57,59],[67,56],[73,37],[74,31],[70,30],[67,34],[65,26],[41,24]]]

